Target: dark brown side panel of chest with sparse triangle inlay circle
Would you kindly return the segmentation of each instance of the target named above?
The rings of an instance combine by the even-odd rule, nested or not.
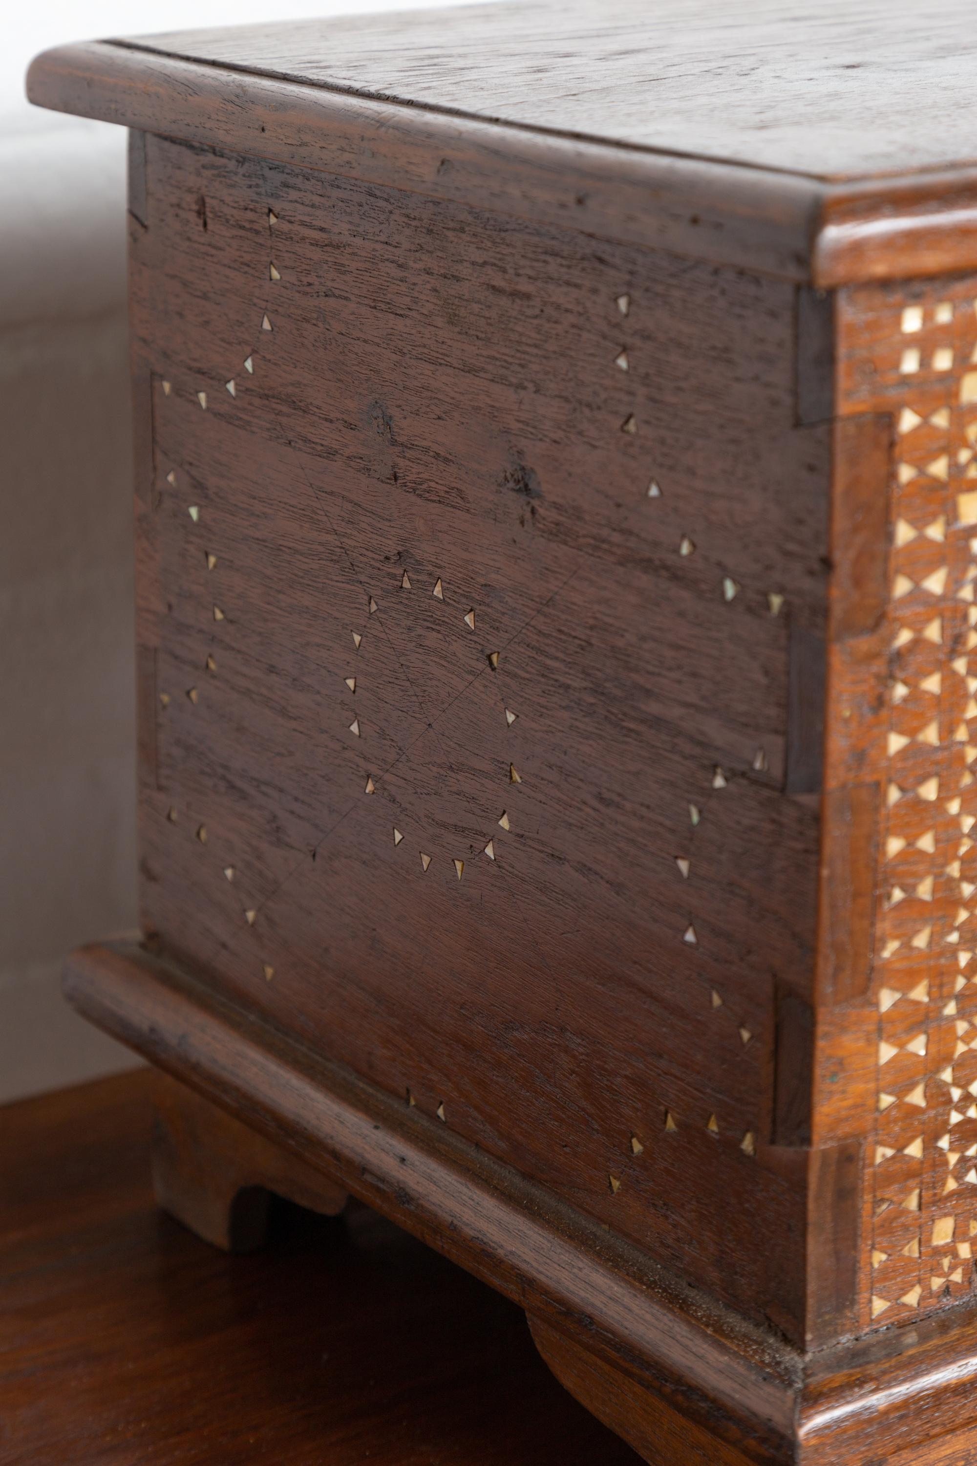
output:
[[[139,207],[148,928],[797,1331],[792,287],[160,139]]]

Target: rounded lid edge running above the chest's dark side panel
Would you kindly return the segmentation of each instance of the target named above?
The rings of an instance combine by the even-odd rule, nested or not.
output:
[[[371,186],[810,277],[823,192],[811,179],[391,107],[103,43],[47,51],[28,92],[41,107]]]

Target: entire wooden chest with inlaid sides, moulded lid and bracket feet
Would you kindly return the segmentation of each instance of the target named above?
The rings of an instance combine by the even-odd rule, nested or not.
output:
[[[31,73],[132,129],[144,940],[69,997],[183,1082],[173,1209],[363,1196],[653,1462],[977,1451],[970,35]]]

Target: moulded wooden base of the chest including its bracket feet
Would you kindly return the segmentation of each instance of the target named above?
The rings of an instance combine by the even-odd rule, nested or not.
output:
[[[246,1187],[322,1211],[352,1192],[523,1306],[561,1382],[656,1466],[974,1459],[970,1305],[803,1355],[167,959],[82,949],[64,990],[204,1098],[204,1110],[173,1101],[167,1121],[164,1091],[158,1177],[164,1205],[211,1240],[240,1245],[242,1227],[253,1239],[255,1218],[234,1223],[229,1208]],[[198,1155],[224,1155],[209,1199],[195,1126]]]

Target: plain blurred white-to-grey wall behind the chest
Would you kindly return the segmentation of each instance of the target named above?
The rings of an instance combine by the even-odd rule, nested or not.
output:
[[[289,13],[410,7],[291,0]],[[72,947],[136,927],[126,139],[29,107],[23,73],[64,41],[270,19],[268,0],[32,0],[4,13],[0,1101],[135,1063],[59,991]]]

